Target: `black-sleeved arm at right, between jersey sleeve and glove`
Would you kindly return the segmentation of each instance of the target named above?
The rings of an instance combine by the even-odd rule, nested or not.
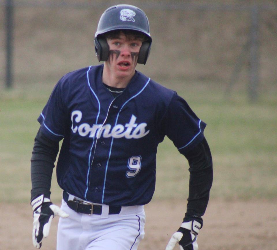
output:
[[[186,154],[190,165],[189,197],[186,217],[201,217],[207,208],[213,182],[213,164],[209,145],[204,138]]]

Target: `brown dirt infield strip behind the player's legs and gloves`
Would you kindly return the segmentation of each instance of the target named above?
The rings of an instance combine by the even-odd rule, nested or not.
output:
[[[184,204],[178,200],[154,200],[146,205],[145,238],[139,250],[165,249],[181,223],[184,210]],[[0,203],[0,211],[0,249],[35,249],[31,239],[30,205]],[[203,219],[204,226],[198,237],[199,250],[277,250],[276,200],[211,200]],[[57,222],[54,218],[42,250],[55,249]]]

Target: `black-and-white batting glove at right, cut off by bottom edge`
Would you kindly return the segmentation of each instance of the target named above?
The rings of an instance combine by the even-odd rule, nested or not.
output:
[[[196,240],[201,227],[201,223],[194,220],[183,222],[181,227],[169,240],[165,250],[173,250],[177,243],[179,243],[181,250],[198,250]]]

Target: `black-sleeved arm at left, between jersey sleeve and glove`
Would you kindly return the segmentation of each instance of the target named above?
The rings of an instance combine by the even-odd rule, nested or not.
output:
[[[59,143],[49,141],[39,130],[31,158],[31,200],[41,194],[50,197],[51,178],[58,151]]]

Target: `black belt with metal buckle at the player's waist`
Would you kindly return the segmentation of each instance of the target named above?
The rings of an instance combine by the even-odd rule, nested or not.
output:
[[[63,199],[66,204],[75,212],[82,214],[102,214],[102,206],[101,205],[93,205],[90,202],[86,202],[84,200],[78,200],[74,198],[74,200],[68,200],[69,194],[63,191]],[[121,211],[121,207],[109,206],[109,214],[119,214]]]

